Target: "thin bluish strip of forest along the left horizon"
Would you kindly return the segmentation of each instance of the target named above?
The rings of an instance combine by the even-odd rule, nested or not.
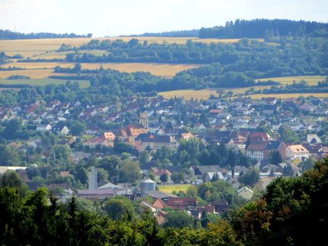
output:
[[[3,39],[35,39],[35,38],[66,38],[66,37],[92,37],[92,33],[88,33],[87,35],[77,35],[75,33],[63,33],[63,34],[55,34],[50,32],[39,32],[39,33],[20,33],[20,32],[12,32],[10,30],[2,30],[0,29],[0,40]]]

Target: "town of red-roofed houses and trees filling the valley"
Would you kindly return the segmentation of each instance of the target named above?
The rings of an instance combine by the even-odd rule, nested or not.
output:
[[[37,100],[0,112],[3,134],[30,130],[28,139],[3,139],[3,162],[25,156],[22,166],[1,167],[2,174],[16,170],[31,191],[47,187],[61,202],[126,196],[153,211],[158,224],[167,207],[198,219],[222,214],[262,194],[277,177],[302,175],[328,153],[326,99],[313,96],[198,101],[139,95],[86,106]],[[219,180],[229,183],[231,194],[206,188]],[[189,185],[186,192],[161,190],[181,183]],[[208,190],[193,189],[198,186]]]

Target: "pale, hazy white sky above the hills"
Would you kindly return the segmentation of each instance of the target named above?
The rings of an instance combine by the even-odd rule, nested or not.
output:
[[[93,37],[224,26],[239,19],[328,23],[328,0],[0,0],[0,29]]]

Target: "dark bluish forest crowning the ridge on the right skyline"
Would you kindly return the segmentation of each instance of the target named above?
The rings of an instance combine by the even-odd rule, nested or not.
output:
[[[265,38],[279,36],[327,37],[328,23],[305,22],[289,19],[236,19],[235,23],[227,22],[226,26],[201,28],[200,38]]]

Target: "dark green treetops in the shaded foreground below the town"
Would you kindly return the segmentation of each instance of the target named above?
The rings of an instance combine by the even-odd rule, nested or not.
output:
[[[325,158],[301,177],[275,179],[263,196],[230,211],[227,219],[218,219],[207,223],[206,228],[197,228],[192,226],[192,220],[189,221],[192,217],[185,217],[182,211],[170,213],[169,221],[180,218],[178,221],[186,224],[182,222],[180,226],[172,227],[172,224],[165,223],[159,227],[149,212],[135,214],[130,202],[119,197],[105,200],[104,206],[98,203],[105,209],[102,213],[102,209],[92,212],[87,211],[86,206],[78,206],[80,203],[76,198],[59,204],[44,189],[26,195],[17,175],[5,175],[0,183],[0,243],[323,245],[328,229],[327,180],[328,158]],[[125,212],[115,210],[120,217],[107,214],[106,210],[112,211],[113,204],[120,200],[125,206],[119,208],[125,208]]]

